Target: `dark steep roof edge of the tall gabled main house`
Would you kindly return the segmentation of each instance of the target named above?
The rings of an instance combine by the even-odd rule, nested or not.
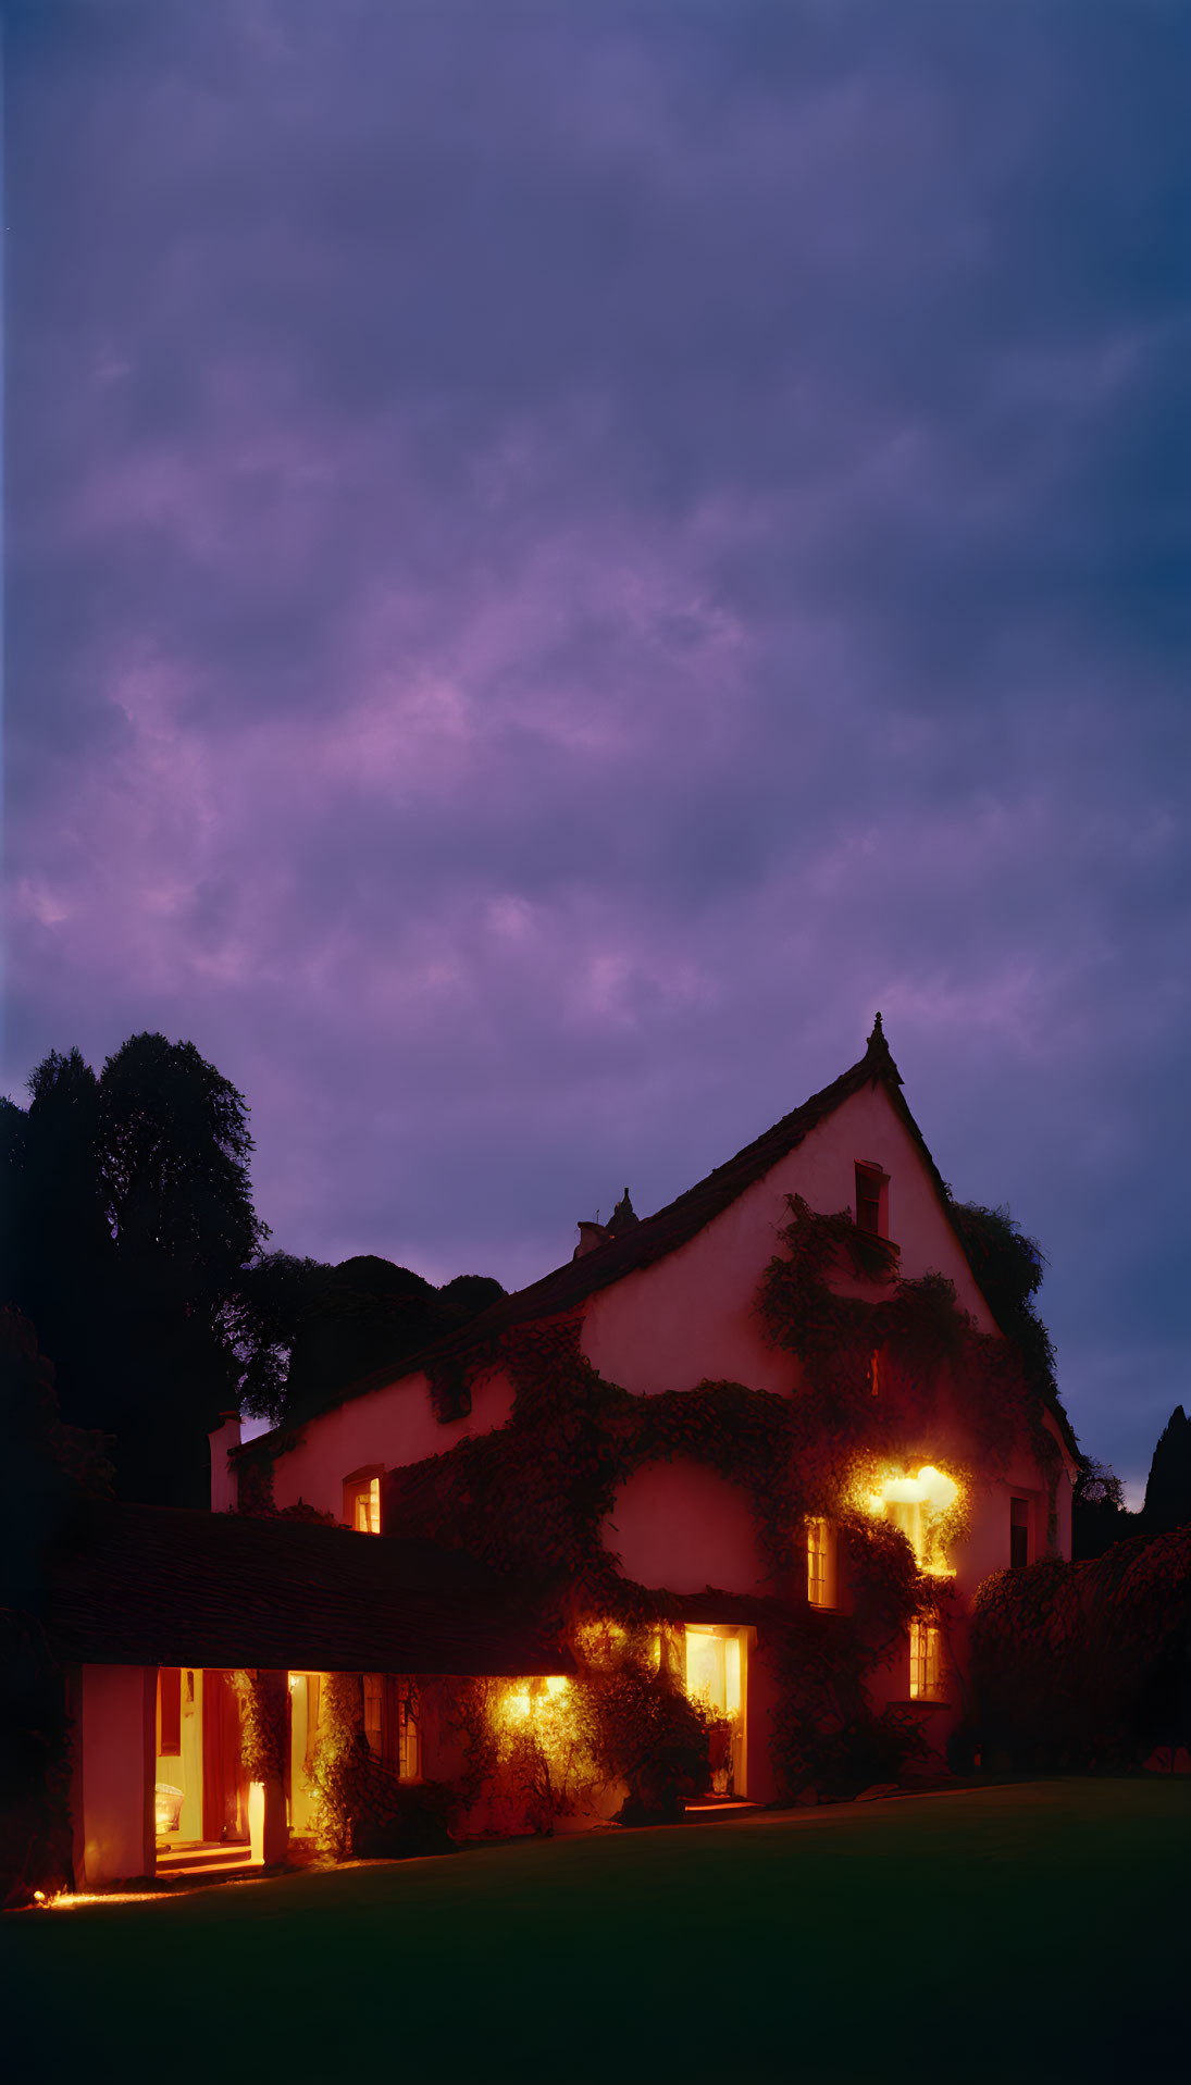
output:
[[[926,1149],[922,1130],[918,1128],[909,1107],[901,1099],[901,1074],[893,1061],[889,1042],[884,1040],[884,1030],[880,1026],[880,1013],[872,1026],[868,1047],[864,1057],[843,1072],[841,1078],[824,1086],[822,1093],[813,1093],[809,1101],[795,1107],[793,1113],[782,1115],[772,1130],[757,1136],[751,1145],[745,1145],[736,1157],[728,1159],[726,1166],[718,1166],[709,1172],[705,1180],[688,1186],[684,1195],[667,1203],[665,1209],[657,1209],[655,1216],[640,1218],[640,1222],[624,1228],[597,1245],[594,1251],[584,1253],[582,1259],[567,1259],[565,1266],[555,1268],[553,1274],[544,1274],[538,1282],[530,1282],[528,1289],[515,1289],[511,1295],[501,1297],[490,1309],[473,1318],[463,1330],[453,1332],[448,1339],[436,1341],[432,1347],[423,1347],[421,1353],[407,1355],[396,1372],[373,1370],[361,1376],[357,1382],[344,1384],[327,1403],[323,1412],[332,1412],[336,1405],[348,1403],[353,1397],[365,1397],[369,1391],[382,1391],[390,1382],[400,1382],[405,1376],[415,1376],[426,1368],[448,1366],[455,1359],[463,1359],[478,1347],[501,1336],[511,1326],[532,1324],[538,1318],[559,1318],[588,1297],[597,1295],[601,1289],[609,1289],[613,1282],[624,1280],[626,1274],[638,1274],[651,1268],[657,1259],[665,1259],[667,1253],[676,1253],[682,1245],[688,1245],[707,1224],[713,1222],[724,1209],[728,1209],[745,1188],[763,1180],[772,1168],[784,1159],[797,1145],[820,1122],[843,1107],[845,1101],[859,1093],[864,1086],[882,1084],[895,1107],[895,1113],[905,1124],[926,1174],[939,1195],[943,1213],[947,1222],[949,1197],[943,1176]],[[628,1193],[628,1191],[626,1191]],[[317,1414],[311,1414],[315,1418]],[[298,1426],[302,1420],[296,1422]],[[277,1428],[279,1430],[279,1428]],[[234,1453],[250,1455],[261,1443],[263,1447],[271,1441],[271,1434],[257,1434],[254,1441],[244,1443],[244,1449]]]

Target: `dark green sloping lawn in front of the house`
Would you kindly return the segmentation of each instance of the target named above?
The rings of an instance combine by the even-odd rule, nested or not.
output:
[[[1051,1781],[0,1922],[25,2075],[1183,2081],[1191,1785]]]

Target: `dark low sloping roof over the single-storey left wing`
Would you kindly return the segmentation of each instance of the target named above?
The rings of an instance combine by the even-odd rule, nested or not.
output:
[[[432,1543],[86,1499],[46,1564],[69,1664],[309,1672],[567,1672],[532,1597]]]

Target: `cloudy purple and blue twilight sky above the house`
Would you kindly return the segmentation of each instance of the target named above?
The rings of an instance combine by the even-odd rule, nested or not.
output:
[[[1191,8],[10,0],[2,1084],[517,1286],[853,1063],[1191,1393]]]

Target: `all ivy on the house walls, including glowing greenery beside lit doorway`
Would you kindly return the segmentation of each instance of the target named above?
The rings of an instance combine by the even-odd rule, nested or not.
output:
[[[699,1785],[707,1718],[665,1658],[657,1670],[657,1647],[653,1670],[640,1649],[642,1630],[657,1645],[657,1628],[680,1616],[682,1601],[622,1578],[603,1545],[603,1522],[636,1470],[690,1460],[749,1503],[770,1587],[772,1756],[786,1797],[893,1779],[924,1749],[918,1716],[905,1706],[874,1714],[866,1683],[899,1651],[912,1616],[932,1616],[949,1637],[953,1599],[947,1580],[918,1568],[907,1539],[866,1510],[880,1468],[930,1462],[955,1476],[962,1501],[976,1472],[1005,1468],[1028,1445],[1049,1485],[1053,1543],[1062,1457],[1045,1403],[1014,1345],[980,1334],[949,1280],[901,1280],[895,1249],[861,1232],[851,1211],[822,1216],[791,1197],[755,1307],[768,1341],[791,1355],[793,1395],[728,1380],[634,1395],[582,1357],[580,1314],[455,1353],[432,1380],[440,1416],[451,1416],[467,1409],[484,1370],[505,1366],[511,1418],[390,1472],[384,1524],[467,1549],[534,1587],[578,1668],[565,1708],[538,1703],[521,1731],[503,1720],[507,1687],[438,1683],[444,1722],[465,1751],[457,1804],[503,1791],[546,1829],[601,1781],[619,1779],[640,1814],[661,1814],[678,1789]],[[267,1472],[261,1489],[265,1503]],[[849,1612],[807,1608],[807,1514],[836,1524]],[[957,1503],[939,1530],[943,1547],[962,1532]],[[619,1649],[611,1664],[592,1662],[590,1633],[609,1626],[622,1630]],[[350,1749],[359,1758],[357,1739],[344,1737],[340,1762]],[[330,1745],[325,1814],[346,1818],[350,1806],[334,1793],[346,1768],[334,1760]],[[330,1826],[334,1843],[346,1843],[344,1833]]]

